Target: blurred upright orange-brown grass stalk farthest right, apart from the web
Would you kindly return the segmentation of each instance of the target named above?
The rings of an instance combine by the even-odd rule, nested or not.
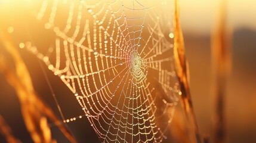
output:
[[[230,36],[226,30],[226,1],[221,1],[218,24],[212,35],[212,66],[214,71],[214,89],[216,96],[216,113],[214,117],[214,142],[225,142],[224,103],[227,76],[232,66],[232,52],[229,45]]]

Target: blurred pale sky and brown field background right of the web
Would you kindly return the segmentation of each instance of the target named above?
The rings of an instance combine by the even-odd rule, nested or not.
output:
[[[215,97],[211,88],[211,33],[218,1],[181,1],[192,100],[201,134],[212,133]],[[232,71],[227,81],[226,128],[229,142],[256,142],[256,10],[255,1],[227,1],[232,32]]]

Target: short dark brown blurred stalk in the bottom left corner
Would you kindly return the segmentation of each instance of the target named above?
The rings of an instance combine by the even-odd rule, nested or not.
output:
[[[11,132],[11,128],[7,125],[4,118],[0,115],[0,133],[4,135],[8,143],[20,143],[20,140],[16,139]]]

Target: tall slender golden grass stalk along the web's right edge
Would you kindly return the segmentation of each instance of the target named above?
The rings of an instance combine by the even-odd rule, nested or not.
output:
[[[196,140],[197,142],[201,142],[189,90],[189,64],[185,56],[184,39],[181,31],[179,0],[175,0],[174,17],[174,58],[177,66],[176,74],[182,92],[181,102],[186,112],[187,119],[192,122]]]

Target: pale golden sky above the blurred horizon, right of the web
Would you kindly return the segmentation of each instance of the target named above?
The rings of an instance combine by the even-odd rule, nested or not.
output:
[[[184,30],[192,32],[211,32],[220,10],[220,1],[180,0],[181,23]],[[256,1],[228,0],[227,18],[232,29],[249,27],[256,29]]]

